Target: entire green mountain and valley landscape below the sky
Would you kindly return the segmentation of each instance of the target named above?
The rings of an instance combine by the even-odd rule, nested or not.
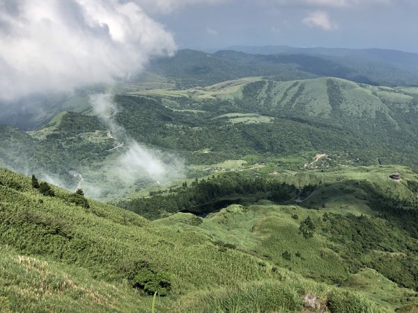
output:
[[[0,312],[416,312],[414,74],[330,62],[184,50],[1,125]]]

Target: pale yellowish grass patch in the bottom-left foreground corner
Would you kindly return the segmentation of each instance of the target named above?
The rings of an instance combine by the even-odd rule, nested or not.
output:
[[[134,312],[148,302],[127,284],[1,246],[1,312]]]

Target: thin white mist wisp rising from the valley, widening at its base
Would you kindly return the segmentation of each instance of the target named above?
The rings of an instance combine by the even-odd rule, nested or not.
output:
[[[134,140],[116,122],[121,109],[110,93],[91,96],[93,111],[109,127],[109,138],[114,138],[114,150],[100,167],[100,172],[88,175],[79,187],[92,198],[113,198],[115,191],[141,188],[151,184],[166,184],[185,177],[183,159],[173,154],[146,147]],[[120,197],[121,195],[119,195]]]

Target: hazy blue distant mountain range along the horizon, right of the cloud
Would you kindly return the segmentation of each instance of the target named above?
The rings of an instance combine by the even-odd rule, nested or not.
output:
[[[372,85],[417,85],[417,74],[385,61],[384,58],[321,56],[304,51],[261,55],[232,50],[208,54],[184,49],[172,58],[153,61],[150,72],[175,81],[178,89],[262,75],[277,81],[332,76]]]

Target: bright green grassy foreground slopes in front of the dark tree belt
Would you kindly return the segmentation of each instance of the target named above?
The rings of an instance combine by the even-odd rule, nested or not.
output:
[[[54,186],[54,196],[41,195],[8,170],[0,182],[4,312],[149,312],[155,288],[168,291],[156,312],[300,312],[306,294],[330,312],[393,312],[415,303],[408,301],[415,291],[392,283],[390,298],[389,287],[359,286],[363,272],[351,276],[332,251],[344,245],[320,230],[320,211],[257,204],[150,222],[93,200],[79,207]],[[318,228],[311,238],[298,232],[306,216]]]

